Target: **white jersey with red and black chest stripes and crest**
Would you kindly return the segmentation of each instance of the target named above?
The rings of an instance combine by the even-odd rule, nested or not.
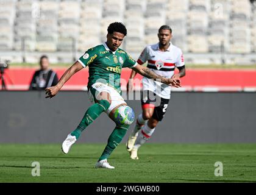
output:
[[[185,66],[182,50],[170,43],[166,51],[159,50],[159,43],[151,44],[144,48],[137,63],[142,65],[148,61],[148,68],[160,76],[171,78],[175,67]],[[170,99],[171,87],[152,79],[143,77],[143,90],[153,91],[161,98]]]

